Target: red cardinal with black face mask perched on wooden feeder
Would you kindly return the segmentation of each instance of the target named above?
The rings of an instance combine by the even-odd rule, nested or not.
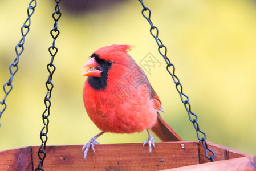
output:
[[[105,132],[134,133],[145,129],[149,153],[154,139],[152,129],[162,141],[180,141],[180,137],[161,119],[161,101],[145,72],[128,55],[133,46],[111,45],[99,48],[83,68],[82,75],[88,76],[83,88],[86,111],[94,124],[102,131],[83,146],[84,159],[96,139]],[[153,127],[154,126],[154,127]],[[153,128],[152,128],[153,127]],[[169,133],[170,132],[170,133]]]

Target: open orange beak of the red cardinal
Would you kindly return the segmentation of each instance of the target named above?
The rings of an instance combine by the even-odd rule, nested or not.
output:
[[[102,71],[99,70],[99,64],[95,61],[94,57],[87,61],[86,64],[84,64],[83,68],[87,68],[81,75],[84,76],[94,76],[94,77],[100,77],[100,73]]]

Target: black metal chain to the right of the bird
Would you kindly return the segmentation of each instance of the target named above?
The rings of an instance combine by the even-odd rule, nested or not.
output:
[[[189,97],[187,95],[185,95],[185,93],[183,93],[183,88],[182,88],[182,84],[180,83],[180,79],[178,79],[178,77],[175,75],[175,67],[170,62],[168,57],[166,56],[167,48],[158,37],[159,36],[158,28],[156,26],[154,26],[151,21],[151,10],[148,7],[145,7],[143,0],[139,0],[139,2],[143,6],[143,10],[142,10],[143,17],[145,19],[147,19],[147,21],[149,22],[149,25],[151,25],[150,33],[153,36],[153,38],[156,40],[157,45],[159,46],[158,51],[162,55],[162,57],[164,58],[164,60],[167,64],[166,70],[172,76],[172,79],[173,79],[174,83],[176,84],[176,89],[177,89],[178,93],[180,94],[181,101],[184,104],[186,111],[188,112],[189,120],[193,123],[194,129],[196,129],[197,139],[200,140],[202,145],[204,146],[206,158],[208,158],[210,161],[214,161],[215,153],[213,152],[213,150],[208,148],[208,145],[206,143],[206,133],[204,133],[203,131],[201,131],[199,129],[198,117],[194,112],[191,111]],[[148,13],[148,14],[146,14],[146,13]],[[172,72],[170,70],[172,70]],[[192,117],[193,117],[193,119],[192,119]],[[202,137],[200,137],[200,133],[202,134]],[[212,155],[210,157],[208,155],[208,152],[212,153]]]

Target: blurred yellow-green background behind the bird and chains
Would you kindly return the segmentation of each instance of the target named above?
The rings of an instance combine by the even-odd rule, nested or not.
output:
[[[9,64],[21,39],[29,0],[0,1],[0,84],[10,78]],[[52,106],[47,145],[84,144],[99,129],[83,106],[80,76],[83,64],[97,48],[131,44],[129,53],[140,62],[149,52],[161,63],[148,78],[162,101],[166,122],[185,141],[197,140],[193,124],[181,103],[165,61],[149,34],[139,1],[63,1],[58,22],[59,49],[54,64]],[[256,155],[256,2],[244,1],[146,1],[168,57],[198,115],[207,140]],[[90,4],[88,6],[88,4]],[[31,18],[25,51],[14,76],[13,91],[0,123],[0,150],[40,145],[48,47],[52,44],[51,15],[55,1],[38,1]],[[0,89],[0,101],[3,99]],[[132,135],[105,134],[106,143],[141,143],[147,132]],[[156,141],[159,141],[155,137]]]

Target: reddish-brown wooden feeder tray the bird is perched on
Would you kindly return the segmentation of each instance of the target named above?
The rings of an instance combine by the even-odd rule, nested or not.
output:
[[[155,143],[149,155],[148,145],[97,144],[90,148],[86,161],[83,145],[46,146],[44,170],[256,170],[256,157],[208,143],[216,157],[205,157],[200,141]],[[39,146],[27,146],[0,152],[0,170],[35,170]]]

